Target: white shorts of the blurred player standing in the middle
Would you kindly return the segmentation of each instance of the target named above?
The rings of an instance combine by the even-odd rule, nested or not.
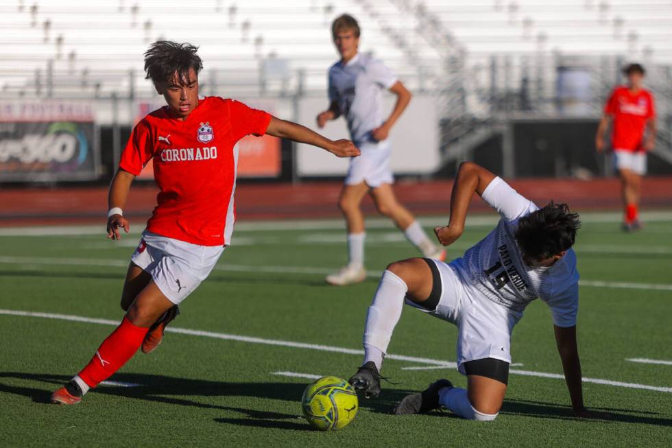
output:
[[[357,148],[361,150],[361,155],[350,158],[346,185],[366,182],[369,187],[376,188],[394,182],[392,169],[389,169],[389,156],[392,154],[389,140],[357,143]]]

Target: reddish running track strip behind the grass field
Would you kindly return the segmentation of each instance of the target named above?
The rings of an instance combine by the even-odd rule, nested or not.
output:
[[[512,186],[537,204],[553,199],[567,202],[573,210],[618,210],[621,207],[619,181],[523,179]],[[291,184],[239,184],[236,191],[239,220],[339,217],[337,200],[341,182]],[[398,182],[394,190],[400,202],[413,213],[447,214],[453,182]],[[156,205],[154,185],[132,187],[124,215],[132,221],[146,220]],[[672,208],[672,177],[649,177],[643,181],[643,207]],[[367,198],[363,208],[375,214]],[[472,211],[485,211],[480,200]],[[0,226],[101,223],[107,212],[106,187],[27,188],[0,191]]]

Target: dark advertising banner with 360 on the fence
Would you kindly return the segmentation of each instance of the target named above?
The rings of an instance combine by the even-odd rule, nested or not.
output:
[[[92,180],[99,158],[90,103],[0,102],[0,181]]]

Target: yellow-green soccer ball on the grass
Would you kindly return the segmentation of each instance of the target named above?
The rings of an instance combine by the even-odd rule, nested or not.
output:
[[[348,425],[357,415],[357,392],[339,377],[322,377],[313,381],[301,399],[303,416],[320,431],[335,431]]]

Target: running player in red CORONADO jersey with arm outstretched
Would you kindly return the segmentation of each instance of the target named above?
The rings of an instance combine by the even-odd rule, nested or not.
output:
[[[180,302],[210,274],[233,231],[237,141],[248,134],[270,134],[339,157],[359,155],[349,140],[331,141],[232,99],[199,97],[202,62],[196,50],[161,40],[145,53],[147,78],[167,106],[138,123],[123,151],[110,185],[108,238],[120,239],[120,228],[128,233],[121,209],[132,180],[152,158],[158,204],[131,257],[121,293],[126,311],[121,325],[80,373],[53,392],[52,403],[78,403],[141,346],[145,353],[152,351]]]

